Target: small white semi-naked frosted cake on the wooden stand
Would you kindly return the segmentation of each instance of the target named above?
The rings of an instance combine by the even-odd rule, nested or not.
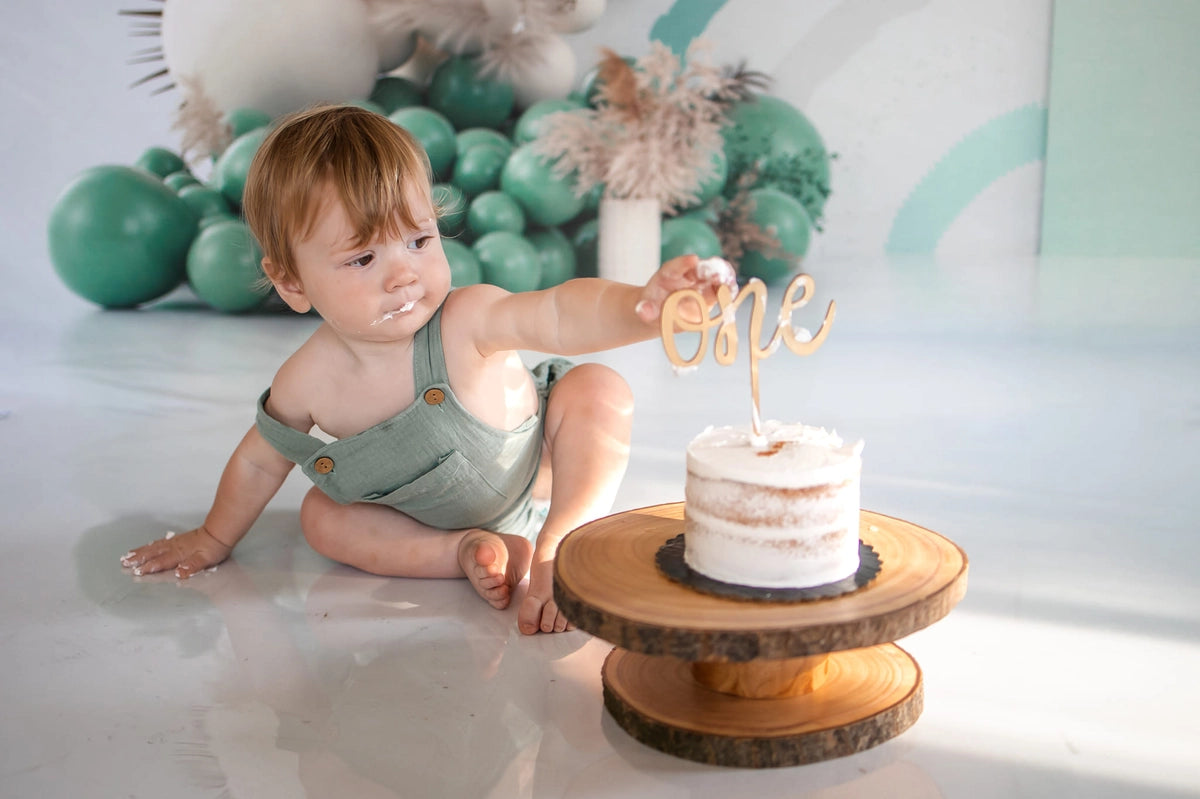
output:
[[[811,588],[859,567],[863,443],[799,423],[709,427],[688,445],[686,565],[754,588]]]

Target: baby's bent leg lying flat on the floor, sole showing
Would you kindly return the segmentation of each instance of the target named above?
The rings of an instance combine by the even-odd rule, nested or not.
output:
[[[300,527],[326,558],[386,577],[466,576],[498,608],[508,607],[533,553],[521,536],[439,530],[384,505],[340,505],[319,488],[305,497]]]

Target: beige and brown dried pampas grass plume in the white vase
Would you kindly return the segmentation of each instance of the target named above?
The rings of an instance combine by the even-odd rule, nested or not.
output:
[[[695,40],[684,62],[661,42],[629,64],[604,50],[594,108],[546,118],[539,152],[570,175],[582,197],[598,185],[612,199],[656,199],[666,214],[694,205],[714,175],[728,108],[762,85],[744,67],[721,70]]]

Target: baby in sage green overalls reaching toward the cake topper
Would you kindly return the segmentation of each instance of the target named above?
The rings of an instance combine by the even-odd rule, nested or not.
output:
[[[556,358],[530,371],[518,350],[654,337],[670,293],[695,288],[712,305],[724,278],[683,256],[644,287],[451,290],[424,151],[356,107],[283,120],[251,164],[244,211],[278,295],[322,324],[259,398],[204,523],[122,565],[184,578],[221,563],[299,463],[314,483],[300,527],[317,552],[376,575],[466,576],[496,608],[528,573],[520,630],[569,629],[554,551],[610,511],[634,403],[605,366]]]

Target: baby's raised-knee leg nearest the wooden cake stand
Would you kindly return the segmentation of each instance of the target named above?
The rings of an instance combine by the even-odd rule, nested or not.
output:
[[[576,527],[612,509],[629,462],[634,397],[617,372],[581,364],[554,384],[546,405],[550,512],[534,547],[529,594],[521,603],[522,632],[569,627],[553,600],[554,552]]]

